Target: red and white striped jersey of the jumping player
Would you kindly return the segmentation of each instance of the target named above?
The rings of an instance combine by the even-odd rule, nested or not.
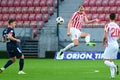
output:
[[[85,23],[85,16],[86,14],[80,14],[78,11],[76,11],[72,16],[72,27],[76,29],[81,29],[82,25]]]

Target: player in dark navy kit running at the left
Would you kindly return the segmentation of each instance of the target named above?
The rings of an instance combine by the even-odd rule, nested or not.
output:
[[[8,27],[3,30],[2,42],[6,42],[6,48],[10,59],[2,68],[0,68],[0,73],[2,73],[12,63],[14,63],[16,61],[16,58],[20,58],[18,74],[26,74],[25,72],[22,71],[24,67],[24,55],[22,54],[22,51],[19,49],[17,45],[17,43],[21,41],[20,39],[17,39],[15,37],[14,32],[15,26],[16,21],[14,19],[10,19],[8,21]]]

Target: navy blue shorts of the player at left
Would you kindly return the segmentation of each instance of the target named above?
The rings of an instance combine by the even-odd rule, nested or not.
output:
[[[10,58],[15,57],[15,56],[17,58],[20,58],[22,56],[22,51],[16,44],[7,43],[7,52]]]

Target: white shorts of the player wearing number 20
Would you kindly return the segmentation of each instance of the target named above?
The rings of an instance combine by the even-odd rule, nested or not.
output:
[[[108,47],[105,48],[102,58],[103,59],[117,59],[118,50],[119,50],[118,43],[109,44]]]

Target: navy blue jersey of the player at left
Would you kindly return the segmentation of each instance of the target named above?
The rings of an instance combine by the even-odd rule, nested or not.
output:
[[[12,36],[15,38],[15,32],[14,32],[14,29],[13,28],[5,28],[3,30],[3,34],[2,34],[2,37],[6,40],[6,42],[10,42],[12,44],[16,44],[17,42],[16,41],[13,41],[13,40],[10,40],[8,38],[8,34],[12,34]]]

